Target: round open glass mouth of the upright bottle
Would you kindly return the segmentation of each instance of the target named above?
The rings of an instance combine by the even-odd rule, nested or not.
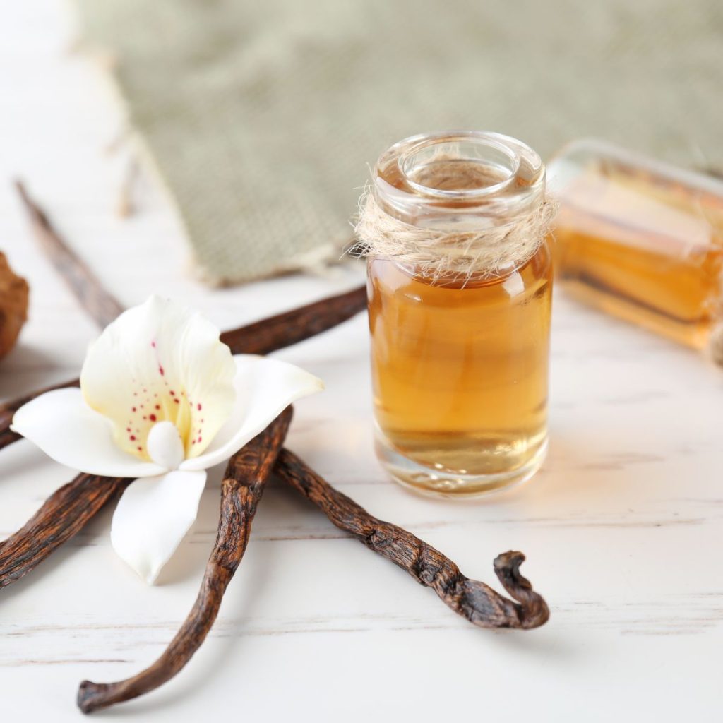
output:
[[[467,132],[425,137],[408,146],[397,165],[419,194],[462,200],[507,190],[515,184],[521,158],[492,134]]]

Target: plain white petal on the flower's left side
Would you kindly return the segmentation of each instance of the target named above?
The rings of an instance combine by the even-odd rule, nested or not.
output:
[[[121,450],[113,425],[87,406],[80,389],[41,394],[15,412],[11,428],[56,462],[87,474],[145,477],[165,471]]]

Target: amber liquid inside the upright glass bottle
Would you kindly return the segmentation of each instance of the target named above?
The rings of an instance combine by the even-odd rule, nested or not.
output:
[[[425,468],[391,470],[401,482],[474,494],[542,460],[551,289],[546,244],[505,278],[466,284],[369,262],[377,426],[382,444]]]

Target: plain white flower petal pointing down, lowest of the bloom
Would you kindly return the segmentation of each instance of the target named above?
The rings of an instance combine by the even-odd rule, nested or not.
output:
[[[149,585],[196,519],[205,484],[205,472],[176,470],[137,479],[119,500],[111,543]]]

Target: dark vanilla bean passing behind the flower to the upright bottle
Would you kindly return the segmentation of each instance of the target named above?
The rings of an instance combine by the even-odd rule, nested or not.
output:
[[[228,344],[233,354],[269,354],[331,329],[366,306],[366,287],[359,286],[344,294],[327,296],[313,304],[225,331],[221,341]],[[10,424],[12,416],[23,404],[50,390],[77,387],[79,383],[77,379],[62,382],[0,405],[0,449],[21,438],[11,431]]]

